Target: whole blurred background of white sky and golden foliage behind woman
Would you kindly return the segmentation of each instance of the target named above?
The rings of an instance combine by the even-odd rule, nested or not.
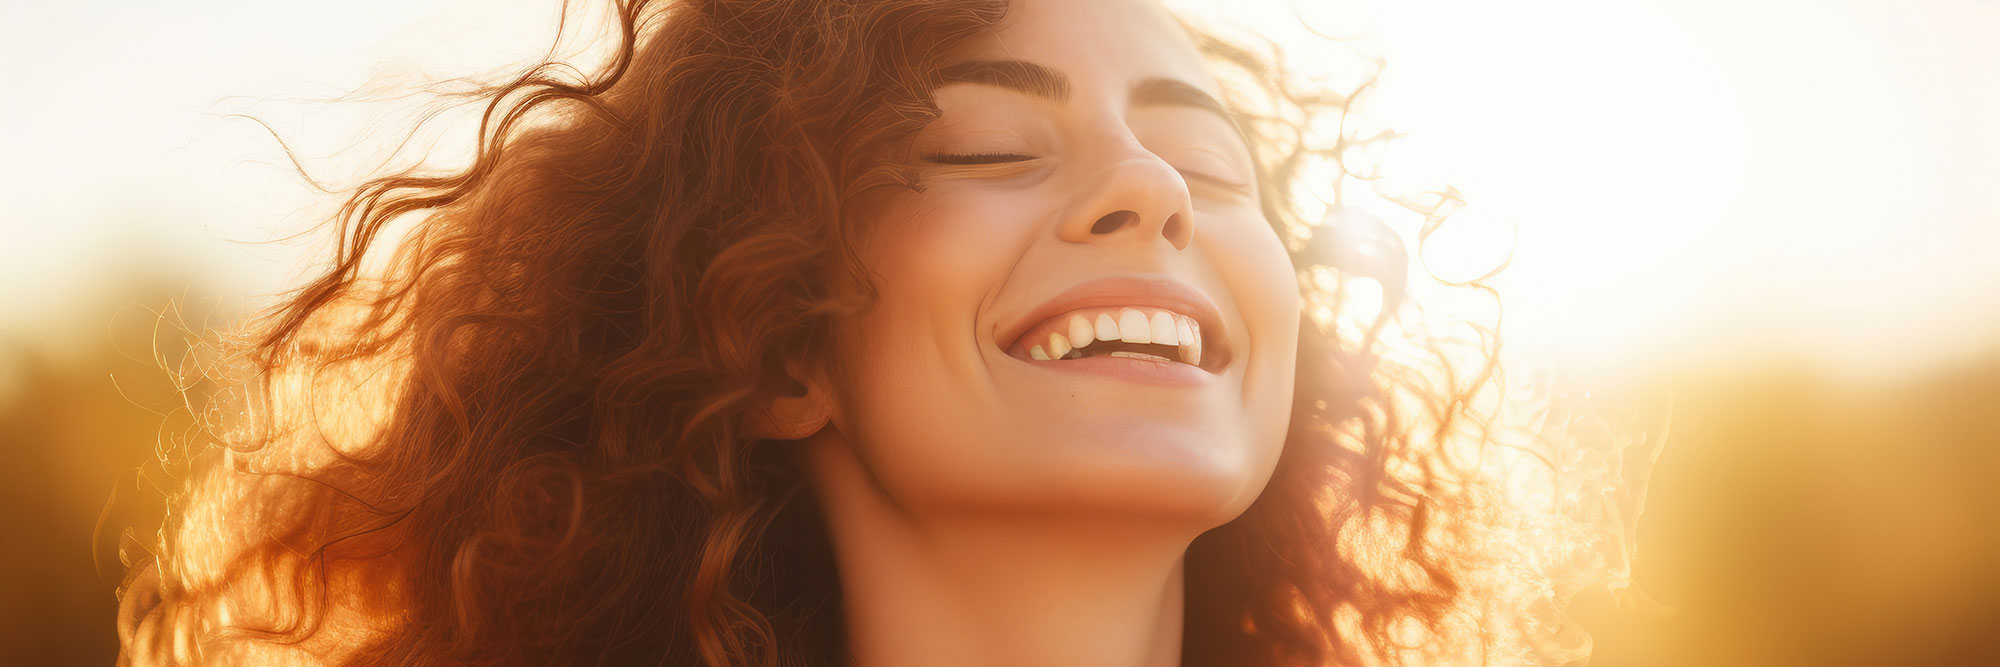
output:
[[[1634,563],[1668,609],[1580,599],[1592,665],[2000,665],[2000,2],[1176,4],[1382,54],[1390,168],[1512,230],[1510,349],[1670,389]],[[0,663],[112,661],[136,471],[188,427],[162,367],[320,250],[264,244],[330,210],[232,114],[352,186],[398,92],[556,14],[0,0]]]

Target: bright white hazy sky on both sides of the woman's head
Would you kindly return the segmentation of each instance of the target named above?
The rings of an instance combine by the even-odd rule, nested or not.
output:
[[[1516,343],[1860,371],[2000,345],[2000,0],[1342,2],[1308,16],[1380,38],[1384,116],[1414,134],[1398,164],[1518,228]],[[340,150],[374,106],[302,100],[536,58],[556,6],[0,0],[0,328],[60,322],[158,252],[284,286],[302,250],[230,242],[298,230],[314,200],[220,114],[360,164]],[[1222,10],[1296,40],[1272,2]]]

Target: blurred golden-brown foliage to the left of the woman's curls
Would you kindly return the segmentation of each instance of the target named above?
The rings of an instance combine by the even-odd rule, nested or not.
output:
[[[178,479],[156,451],[192,435],[166,367],[220,302],[194,270],[108,272],[0,330],[0,665],[116,661],[120,545],[158,539]]]

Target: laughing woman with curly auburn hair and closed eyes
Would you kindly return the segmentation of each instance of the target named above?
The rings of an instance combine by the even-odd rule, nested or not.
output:
[[[1308,310],[1304,116],[1250,106],[1336,102],[1136,0],[620,16],[470,168],[352,196],[126,661],[1512,655],[1422,445],[1484,375],[1396,401]]]

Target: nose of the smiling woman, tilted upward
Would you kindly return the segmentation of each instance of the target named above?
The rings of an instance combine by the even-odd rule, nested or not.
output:
[[[1136,150],[1106,166],[1084,188],[1088,190],[1064,214],[1056,232],[1066,242],[1164,236],[1174,250],[1186,250],[1194,240],[1188,182],[1160,156]]]

